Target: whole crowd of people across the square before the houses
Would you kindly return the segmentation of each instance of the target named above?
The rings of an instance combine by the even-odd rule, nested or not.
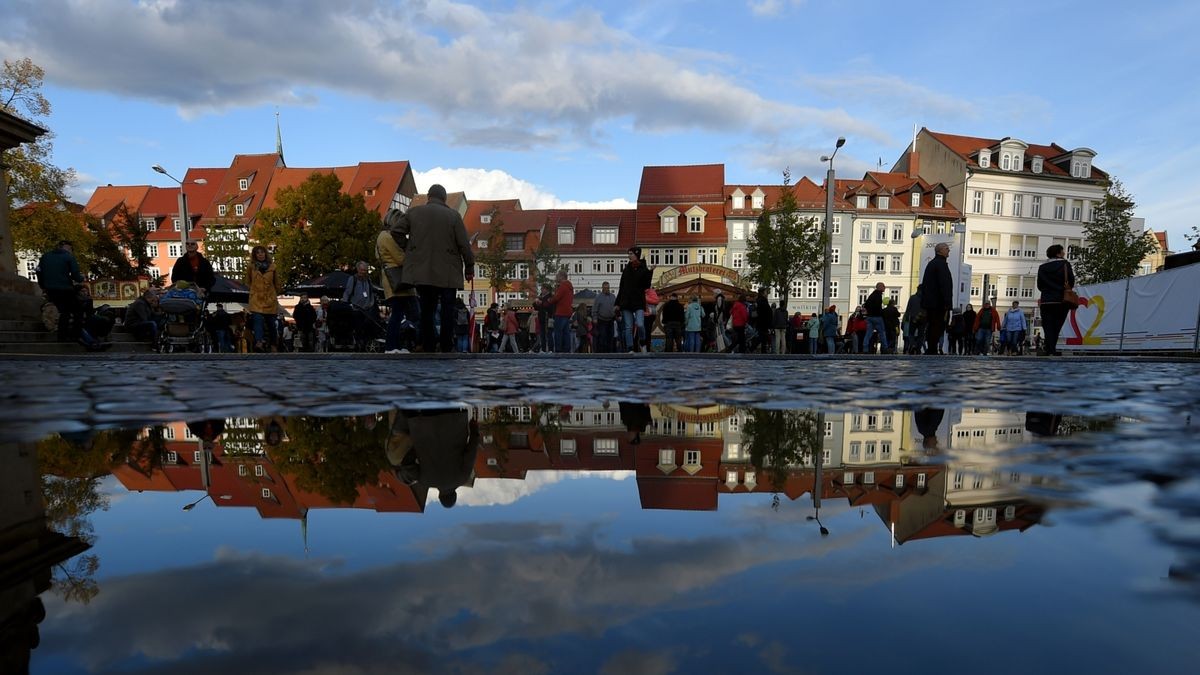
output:
[[[898,353],[907,354],[1058,354],[1057,340],[1074,306],[1075,283],[1063,247],[1054,245],[1038,270],[1043,335],[1030,344],[1031,325],[1019,303],[1000,313],[990,301],[976,311],[954,309],[954,281],[940,244],[904,312],[887,286],[877,283],[863,305],[845,321],[830,305],[818,313],[788,315],[786,304],[773,304],[767,288],[756,294],[726,298],[718,292],[709,301],[691,294],[660,298],[641,247],[628,250],[628,262],[613,292],[605,282],[590,304],[577,303],[565,269],[552,286],[541,289],[528,309],[492,304],[478,323],[458,292],[473,280],[474,256],[457,210],[445,203],[446,191],[433,185],[428,201],[407,211],[390,210],[376,239],[380,286],[371,265],[359,261],[341,295],[324,295],[319,306],[301,298],[290,319],[280,305],[283,275],[271,252],[254,246],[245,268],[248,289],[245,309],[226,311],[198,304],[200,325],[208,333],[203,351],[317,352],[335,346],[354,351],[407,352],[538,352],[614,353],[724,352],[724,353]],[[194,241],[172,270],[173,291],[194,288],[203,298],[215,282],[211,264]],[[71,244],[62,241],[41,261],[38,282],[59,310],[61,340],[78,340],[90,350],[104,348],[104,338],[118,321],[91,307],[83,289]],[[161,310],[158,291],[148,291],[125,311],[125,330],[154,341],[168,313]],[[341,328],[341,330],[338,329]],[[343,335],[344,341],[343,341]],[[654,336],[661,335],[661,342]],[[901,342],[902,339],[902,342]],[[997,340],[998,339],[998,340]],[[336,344],[336,345],[335,345]]]

